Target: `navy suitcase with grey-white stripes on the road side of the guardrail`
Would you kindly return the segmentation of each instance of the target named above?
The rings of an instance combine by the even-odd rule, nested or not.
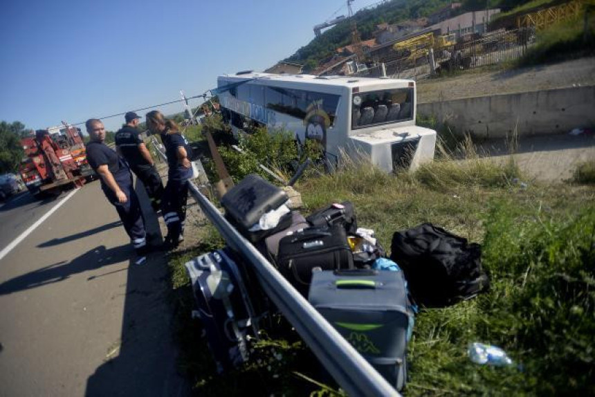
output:
[[[258,335],[259,320],[230,251],[217,250],[185,264],[194,302],[219,373],[248,360],[246,335]]]

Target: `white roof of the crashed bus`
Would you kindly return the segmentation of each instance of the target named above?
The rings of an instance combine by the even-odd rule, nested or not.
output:
[[[273,73],[246,72],[239,75],[221,75],[228,81],[242,80],[264,80],[276,82],[296,82],[320,84],[323,86],[372,86],[379,83],[402,83],[409,85],[414,80],[387,79],[380,77],[356,77],[356,76],[315,76],[315,75],[276,75]]]

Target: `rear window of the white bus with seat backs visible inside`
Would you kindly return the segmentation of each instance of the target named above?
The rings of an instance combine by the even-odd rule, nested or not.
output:
[[[413,88],[354,93],[351,100],[351,129],[412,120]]]

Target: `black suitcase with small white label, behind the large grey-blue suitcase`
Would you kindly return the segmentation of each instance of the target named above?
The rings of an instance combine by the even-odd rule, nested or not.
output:
[[[302,295],[308,295],[312,270],[354,268],[354,256],[340,223],[307,228],[283,237],[279,242],[277,266]]]

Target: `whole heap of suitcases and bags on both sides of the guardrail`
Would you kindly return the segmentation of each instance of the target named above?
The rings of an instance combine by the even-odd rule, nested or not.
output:
[[[244,178],[221,199],[226,219],[238,232],[395,389],[402,389],[407,377],[407,343],[417,313],[405,277],[414,275],[416,285],[411,284],[411,290],[423,296],[427,291],[419,277],[424,272],[427,277],[430,268],[439,269],[440,260],[448,257],[450,246],[456,246],[459,251],[454,256],[460,257],[468,248],[466,240],[459,241],[458,237],[453,239],[454,235],[449,235],[446,243],[436,245],[430,241],[430,248],[426,247],[429,253],[422,247],[405,254],[402,249],[405,240],[396,232],[392,255],[387,258],[374,238],[374,231],[358,228],[354,206],[349,201],[333,203],[306,217],[290,210],[288,204],[288,196],[282,189],[256,175]],[[418,240],[414,235],[407,237],[412,242],[405,244],[414,245]],[[473,250],[477,251],[477,247],[473,246]],[[442,258],[432,261],[437,252],[442,253]],[[401,263],[406,267],[400,268]],[[441,296],[448,304],[457,301],[446,299],[448,294],[475,294],[486,288],[487,277],[480,264],[478,271],[471,271],[475,265],[455,275],[457,264],[449,264],[450,272],[446,273],[450,284],[445,296]],[[270,310],[255,275],[228,248],[201,255],[188,262],[186,268],[218,370],[225,371],[245,362],[248,335],[258,337],[262,319]],[[471,273],[479,281],[473,284],[475,288],[465,288],[459,281]],[[426,303],[431,304],[432,299],[423,300]]]

